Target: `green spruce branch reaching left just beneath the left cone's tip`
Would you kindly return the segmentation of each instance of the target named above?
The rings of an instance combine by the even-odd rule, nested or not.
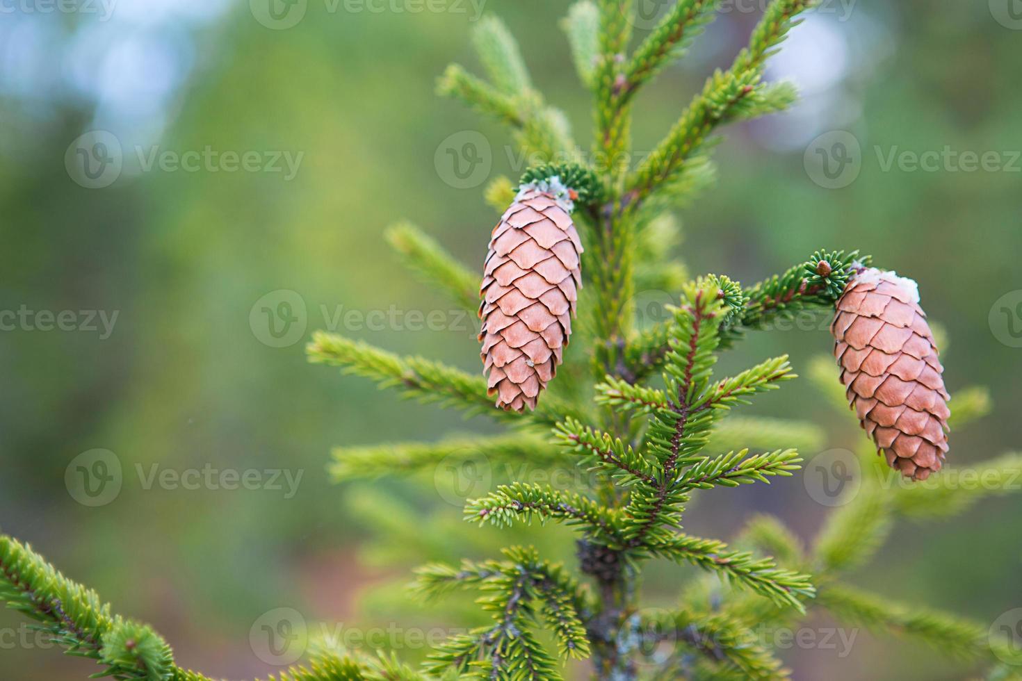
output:
[[[438,402],[465,409],[469,414],[490,414],[509,421],[553,426],[574,409],[551,396],[527,415],[493,408],[481,377],[445,367],[422,357],[400,357],[336,334],[322,331],[313,335],[308,348],[309,360],[341,367],[344,372],[376,381],[381,388],[397,387],[421,402]]]

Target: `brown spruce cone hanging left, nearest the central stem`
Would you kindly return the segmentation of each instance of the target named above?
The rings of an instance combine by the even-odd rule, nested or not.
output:
[[[505,409],[536,408],[571,335],[583,251],[573,197],[556,177],[524,185],[490,240],[480,356],[489,394]]]

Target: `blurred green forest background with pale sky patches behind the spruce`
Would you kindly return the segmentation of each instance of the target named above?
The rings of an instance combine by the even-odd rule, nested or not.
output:
[[[917,279],[924,306],[947,332],[951,392],[985,384],[994,399],[991,416],[954,438],[960,464],[1019,441],[1022,349],[1012,345],[1022,320],[990,314],[1002,296],[1022,289],[1022,20],[1010,2],[825,3],[771,63],[770,77],[793,79],[803,102],[732,128],[715,151],[717,184],[680,215],[679,256],[693,273],[752,282],[827,247],[861,248]],[[638,149],[650,148],[706,75],[730,61],[755,5],[726,3],[690,56],[644,93]],[[310,367],[304,340],[335,325],[387,349],[478,370],[471,320],[458,323],[453,305],[405,272],[381,232],[408,217],[475,266],[495,220],[484,181],[524,169],[503,130],[433,95],[447,63],[477,70],[469,31],[480,11],[506,19],[537,85],[588,146],[589,96],[557,27],[567,3],[308,0],[291,7],[305,13],[289,28],[260,0],[120,0],[89,5],[92,12],[44,6],[27,1],[0,15],[0,310],[75,314],[65,317],[68,330],[45,330],[44,314],[0,333],[0,527],[115,611],[153,624],[179,664],[211,676],[278,669],[249,637],[275,609],[294,609],[310,624],[385,627],[394,604],[371,587],[404,581],[410,564],[374,541],[381,537],[366,518],[381,503],[402,500],[410,522],[426,519],[421,529],[398,523],[394,532],[412,544],[428,537],[434,552],[459,550],[465,533],[492,534],[494,546],[507,538],[462,526],[457,505],[421,486],[331,485],[330,447],[496,427]],[[646,0],[644,12],[656,9]],[[105,131],[120,146],[122,167],[107,186],[89,185],[108,175],[83,179],[74,169],[79,148],[99,160],[94,142],[110,140],[76,142],[89,131]],[[491,167],[460,188],[444,165],[444,142],[466,131],[481,135]],[[846,186],[836,189],[821,186],[826,178],[812,162],[814,140],[831,131],[860,145],[851,175],[837,181]],[[148,165],[154,146],[170,152],[165,158],[207,147],[254,152],[258,169]],[[1000,167],[886,163],[892,151],[945,148],[996,152]],[[106,151],[107,160],[118,153],[109,144]],[[297,161],[293,177],[283,156],[275,160],[278,151]],[[284,311],[281,300],[296,301],[290,309],[305,327],[293,343],[275,347],[291,339],[278,342],[260,327],[261,299]],[[382,330],[357,323],[391,306],[439,310],[451,323],[442,331],[407,317]],[[89,310],[111,321],[117,313],[108,334],[98,317],[90,330]],[[350,310],[356,315],[344,318]],[[753,336],[736,361],[787,351],[797,370],[829,347],[824,330],[778,331]],[[763,404],[824,425],[835,440],[828,446],[861,437],[850,416],[828,408],[805,381]],[[89,506],[68,492],[65,471],[97,448],[113,452],[123,485],[109,502]],[[137,471],[148,476],[154,465],[283,469],[301,478],[294,494],[283,476],[283,489],[147,486]],[[779,514],[803,536],[826,513],[796,476],[710,494],[687,516],[687,529],[727,538],[753,510]],[[992,622],[1022,605],[1020,514],[1022,496],[1009,496],[956,521],[901,527],[857,581]],[[540,545],[567,537],[539,527],[526,534]],[[405,597],[389,591],[390,600]],[[438,626],[428,610],[398,626],[413,624]],[[22,636],[22,627],[0,614],[0,677],[95,671],[37,649],[45,642]],[[798,679],[969,672],[918,644],[865,632],[847,658],[797,647],[784,658]]]

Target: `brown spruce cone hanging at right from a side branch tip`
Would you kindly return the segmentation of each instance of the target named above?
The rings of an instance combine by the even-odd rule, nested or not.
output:
[[[915,480],[939,471],[950,396],[916,283],[861,271],[838,298],[831,333],[848,400],[887,464]]]

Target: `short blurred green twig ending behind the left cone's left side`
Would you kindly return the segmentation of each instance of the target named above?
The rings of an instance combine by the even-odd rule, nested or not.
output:
[[[405,263],[422,279],[446,291],[463,308],[475,312],[479,306],[478,277],[458,262],[431,237],[411,223],[399,223],[384,237]]]

